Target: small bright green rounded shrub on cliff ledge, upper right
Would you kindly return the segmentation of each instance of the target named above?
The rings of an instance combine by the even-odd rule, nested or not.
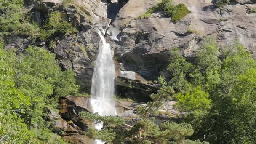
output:
[[[181,20],[183,17],[187,16],[190,13],[186,5],[184,5],[183,3],[176,5],[175,9],[175,13],[172,15],[173,22]]]

